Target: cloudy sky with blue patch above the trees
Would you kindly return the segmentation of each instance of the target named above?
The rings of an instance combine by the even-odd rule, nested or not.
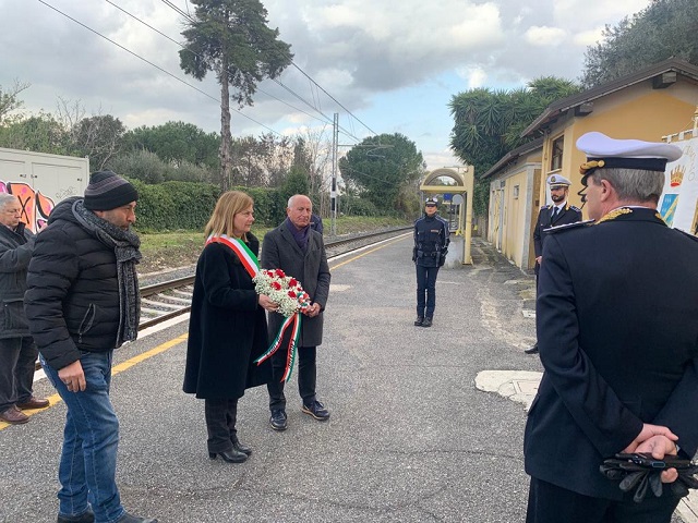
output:
[[[516,88],[539,76],[577,80],[604,25],[650,1],[263,3],[298,68],[282,73],[282,85],[261,84],[254,106],[233,112],[233,136],[310,127],[330,137],[327,119],[338,112],[340,144],[402,133],[434,169],[456,162],[448,149],[454,95]],[[21,94],[28,112],[55,113],[60,97],[129,129],[181,120],[219,132],[215,78],[197,82],[179,68],[184,19],[177,9],[193,13],[188,0],[0,0],[0,85],[29,83]]]

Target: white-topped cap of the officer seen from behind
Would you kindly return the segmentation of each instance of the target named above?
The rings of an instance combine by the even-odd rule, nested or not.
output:
[[[587,185],[587,177],[595,169],[638,169],[664,172],[667,161],[681,158],[679,147],[664,142],[641,139],[616,139],[603,133],[582,134],[577,139],[577,148],[587,155],[587,161],[579,167],[581,183]]]

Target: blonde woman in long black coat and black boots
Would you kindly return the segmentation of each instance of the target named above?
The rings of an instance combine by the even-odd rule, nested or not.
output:
[[[239,191],[224,193],[205,235],[242,240],[254,256],[260,241],[250,232],[252,198]],[[252,453],[238,439],[238,400],[245,389],[272,379],[272,362],[254,363],[268,348],[266,315],[276,304],[257,295],[252,276],[231,247],[207,242],[196,264],[189,323],[184,392],[204,400],[208,457],[242,463]]]

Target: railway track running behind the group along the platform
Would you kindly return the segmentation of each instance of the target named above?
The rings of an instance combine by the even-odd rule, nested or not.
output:
[[[327,258],[346,254],[411,230],[411,227],[357,234],[325,243]],[[191,309],[194,276],[186,276],[141,288],[141,323],[139,330],[167,321]]]

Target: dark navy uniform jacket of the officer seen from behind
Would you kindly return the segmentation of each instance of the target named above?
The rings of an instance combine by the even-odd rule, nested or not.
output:
[[[549,233],[537,302],[545,368],[526,425],[526,472],[621,499],[599,465],[642,423],[698,449],[698,239],[653,209]],[[650,495],[651,496],[651,495]]]

